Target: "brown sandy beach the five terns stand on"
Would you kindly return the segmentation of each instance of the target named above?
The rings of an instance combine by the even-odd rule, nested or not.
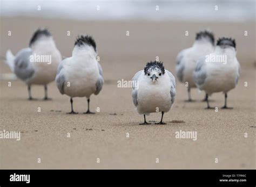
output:
[[[42,100],[43,87],[33,86],[29,101],[23,82],[1,80],[0,131],[21,131],[21,140],[0,139],[1,169],[252,169],[255,168],[255,23],[191,23],[154,21],[73,21],[39,18],[1,18],[1,56],[8,48],[17,53],[28,46],[37,27],[48,27],[59,51],[70,56],[77,34],[96,39],[105,84],[98,96],[75,98],[79,114],[69,115],[68,96],[49,85],[50,101]],[[196,102],[186,103],[185,85],[177,81],[173,109],[166,113],[166,125],[142,126],[130,88],[117,88],[118,80],[131,80],[145,63],[164,61],[174,75],[178,52],[192,45],[195,33],[211,28],[216,37],[237,40],[241,76],[237,88],[228,93],[233,110],[205,110],[203,92],[192,90]],[[8,31],[12,32],[8,37]],[[71,32],[67,36],[67,31]],[[126,31],[130,35],[126,36]],[[185,31],[189,35],[185,36]],[[244,36],[248,31],[248,36]],[[1,72],[10,73],[1,60]],[[248,87],[245,87],[245,82]],[[211,97],[212,106],[224,105],[223,93]],[[41,107],[41,112],[38,112]],[[116,114],[114,114],[116,113]],[[159,121],[160,113],[149,121]],[[172,123],[170,122],[172,121]],[[184,121],[185,123],[179,123]],[[174,123],[173,123],[174,122]],[[177,131],[196,131],[197,140],[177,139]],[[70,138],[67,137],[70,133]],[[126,137],[126,133],[130,137]],[[248,137],[245,138],[245,133]],[[38,158],[41,163],[38,163]],[[100,159],[97,163],[97,159]],[[159,163],[156,163],[156,159]],[[215,163],[218,158],[218,163]]]

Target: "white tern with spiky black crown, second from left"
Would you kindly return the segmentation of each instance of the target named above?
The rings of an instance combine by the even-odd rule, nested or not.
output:
[[[75,41],[72,56],[60,62],[56,84],[60,93],[70,96],[71,112],[73,111],[73,97],[87,98],[86,114],[90,111],[90,96],[98,95],[104,84],[103,70],[96,60],[96,42],[90,35],[79,35]]]

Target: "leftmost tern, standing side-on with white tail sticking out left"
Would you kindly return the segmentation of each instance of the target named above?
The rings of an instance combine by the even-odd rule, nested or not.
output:
[[[55,80],[58,64],[62,56],[51,33],[47,29],[36,30],[28,48],[23,48],[15,56],[10,49],[6,52],[6,63],[11,71],[28,86],[29,100],[32,100],[31,85],[44,85],[44,99],[50,99],[47,85]]]

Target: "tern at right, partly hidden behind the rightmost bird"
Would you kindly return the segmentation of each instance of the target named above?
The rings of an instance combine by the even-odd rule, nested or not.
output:
[[[190,48],[183,49],[176,57],[176,75],[181,83],[187,87],[188,100],[191,99],[191,88],[196,88],[193,81],[193,71],[199,57],[214,51],[214,34],[210,31],[200,31],[196,34],[196,41]]]

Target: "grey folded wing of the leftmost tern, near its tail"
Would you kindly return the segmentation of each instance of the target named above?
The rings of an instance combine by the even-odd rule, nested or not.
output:
[[[32,51],[30,48],[24,48],[17,53],[15,56],[15,67],[14,72],[17,77],[21,78],[21,80],[28,82],[29,79],[35,73],[35,70],[32,67],[30,62],[30,56],[32,55]]]

